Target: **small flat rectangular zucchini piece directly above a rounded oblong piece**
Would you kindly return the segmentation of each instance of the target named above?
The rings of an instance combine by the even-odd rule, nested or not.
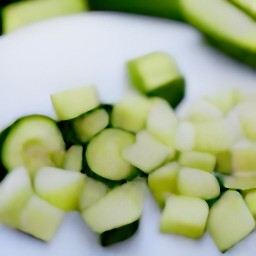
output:
[[[216,157],[206,152],[187,151],[179,155],[178,162],[184,167],[212,172],[216,165]]]

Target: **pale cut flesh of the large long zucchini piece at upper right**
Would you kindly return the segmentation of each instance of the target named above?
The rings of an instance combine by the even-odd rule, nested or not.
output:
[[[256,52],[256,23],[225,0],[181,0],[185,18],[219,40]]]

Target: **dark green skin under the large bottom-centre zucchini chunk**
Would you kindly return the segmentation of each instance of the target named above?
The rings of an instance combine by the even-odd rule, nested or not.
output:
[[[138,227],[139,227],[139,220],[136,220],[122,227],[105,231],[102,234],[100,234],[99,242],[104,247],[113,245],[118,242],[122,242],[132,237],[138,230]]]

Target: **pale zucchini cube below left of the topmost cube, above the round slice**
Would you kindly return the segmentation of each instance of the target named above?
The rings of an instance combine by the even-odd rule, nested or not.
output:
[[[144,129],[151,104],[150,100],[143,96],[125,97],[113,106],[112,126],[131,132]]]

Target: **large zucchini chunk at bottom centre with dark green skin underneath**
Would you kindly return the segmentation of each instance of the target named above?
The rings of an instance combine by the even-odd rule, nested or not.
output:
[[[138,228],[145,194],[145,183],[134,180],[110,190],[82,212],[87,225],[107,246],[131,237]]]

